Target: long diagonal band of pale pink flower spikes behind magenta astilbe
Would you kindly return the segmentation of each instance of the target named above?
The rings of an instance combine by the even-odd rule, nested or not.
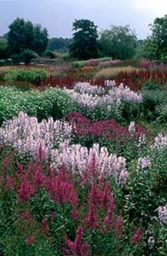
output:
[[[126,159],[109,154],[106,147],[100,148],[94,144],[90,150],[79,144],[70,145],[73,126],[52,118],[37,122],[37,118],[29,117],[20,112],[17,118],[5,122],[0,128],[0,141],[13,146],[19,154],[29,153],[34,158],[43,150],[45,159],[51,162],[53,168],[65,166],[70,172],[81,176],[87,170],[96,175],[116,175],[120,182],[126,182],[128,173]]]

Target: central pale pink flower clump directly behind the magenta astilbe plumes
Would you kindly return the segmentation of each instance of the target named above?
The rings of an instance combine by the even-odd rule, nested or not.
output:
[[[106,147],[100,148],[99,144],[94,144],[90,150],[79,144],[69,146],[67,143],[60,144],[59,149],[52,150],[51,162],[54,168],[62,165],[66,166],[69,171],[77,176],[81,176],[90,168],[94,162],[94,168],[98,176],[116,175],[120,176],[121,172],[126,171],[126,159],[117,157],[116,154],[109,154]],[[128,172],[121,174],[120,182],[126,182]]]

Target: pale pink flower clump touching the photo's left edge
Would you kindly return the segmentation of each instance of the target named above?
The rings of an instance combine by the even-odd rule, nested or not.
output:
[[[53,118],[37,122],[37,118],[20,112],[0,128],[0,141],[13,146],[20,154],[30,153],[34,157],[42,146],[47,156],[60,142],[69,141],[72,131],[73,127],[66,122],[54,122]]]

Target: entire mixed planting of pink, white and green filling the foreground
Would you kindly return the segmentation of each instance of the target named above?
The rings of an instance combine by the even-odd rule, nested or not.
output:
[[[0,92],[1,255],[165,255],[164,92]]]

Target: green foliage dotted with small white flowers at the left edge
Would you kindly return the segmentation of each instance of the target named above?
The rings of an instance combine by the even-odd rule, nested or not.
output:
[[[58,89],[48,89],[43,92],[21,91],[14,87],[0,87],[0,124],[20,111],[38,120],[52,116],[54,120],[61,119],[69,112],[76,111],[76,105],[67,94]]]

